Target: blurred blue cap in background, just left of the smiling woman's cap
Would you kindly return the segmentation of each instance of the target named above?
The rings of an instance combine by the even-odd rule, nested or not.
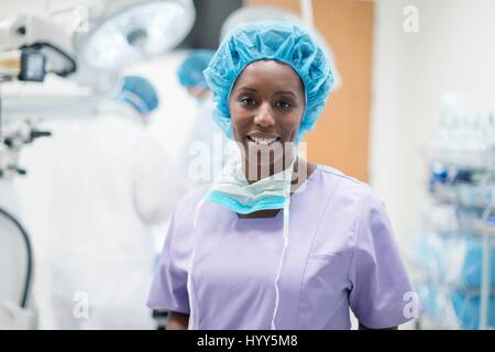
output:
[[[183,87],[207,88],[202,72],[208,67],[215,52],[196,50],[186,57],[177,69],[177,76]]]

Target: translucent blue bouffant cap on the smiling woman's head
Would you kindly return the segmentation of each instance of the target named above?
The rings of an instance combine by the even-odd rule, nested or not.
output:
[[[215,122],[233,139],[229,96],[242,70],[256,61],[274,59],[290,66],[305,86],[306,110],[297,135],[310,131],[324,109],[333,75],[323,50],[300,28],[286,22],[260,22],[232,31],[222,42],[205,77],[213,91]]]

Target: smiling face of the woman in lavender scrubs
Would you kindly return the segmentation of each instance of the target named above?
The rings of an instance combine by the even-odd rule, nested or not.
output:
[[[235,81],[229,108],[234,139],[248,163],[274,165],[288,158],[286,145],[299,131],[305,112],[302,81],[285,64],[254,62]]]

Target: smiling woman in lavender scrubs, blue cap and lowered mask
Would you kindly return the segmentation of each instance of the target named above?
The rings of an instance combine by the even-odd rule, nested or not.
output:
[[[150,307],[170,311],[168,329],[349,329],[349,308],[370,329],[409,320],[382,202],[287,147],[314,127],[332,84],[310,35],[243,26],[205,75],[213,118],[242,157],[178,205]]]

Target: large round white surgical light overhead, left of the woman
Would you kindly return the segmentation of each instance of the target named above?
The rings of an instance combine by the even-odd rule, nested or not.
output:
[[[190,0],[139,1],[103,15],[76,41],[79,57],[98,69],[124,65],[160,55],[178,45],[196,19]]]

